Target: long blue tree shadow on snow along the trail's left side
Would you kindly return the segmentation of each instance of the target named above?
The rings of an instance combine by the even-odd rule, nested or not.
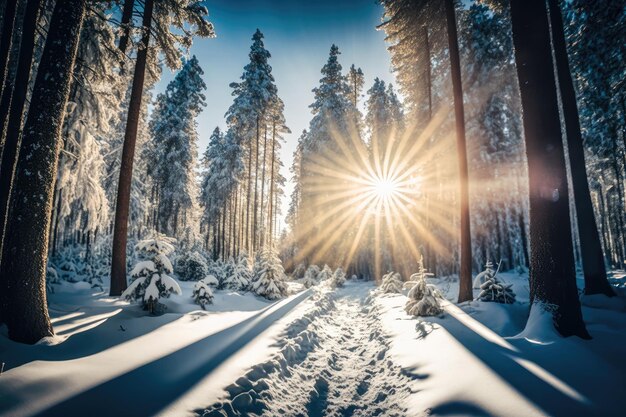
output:
[[[38,417],[152,416],[166,408],[226,359],[304,301],[310,291],[279,301],[252,317],[167,356],[79,393]]]

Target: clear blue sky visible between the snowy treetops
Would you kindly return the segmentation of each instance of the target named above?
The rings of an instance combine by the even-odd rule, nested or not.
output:
[[[272,54],[270,64],[293,132],[286,137],[281,155],[287,178],[298,136],[311,118],[311,89],[321,78],[331,44],[339,46],[344,71],[353,63],[363,69],[365,90],[375,77],[393,81],[384,33],[375,29],[383,12],[375,0],[206,0],[205,4],[217,37],[196,39],[191,48],[208,87],[207,106],[198,119],[200,153],[215,126],[225,127],[224,113],[232,103],[228,85],[241,76],[257,28]],[[165,71],[157,92],[172,78]],[[289,196],[291,184],[286,191]],[[287,203],[283,202],[283,213]]]

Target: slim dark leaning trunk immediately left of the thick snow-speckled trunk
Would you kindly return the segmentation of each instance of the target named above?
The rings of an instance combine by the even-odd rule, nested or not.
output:
[[[41,0],[29,0],[24,13],[24,23],[22,25],[22,39],[20,42],[20,53],[17,61],[17,72],[13,92],[6,91],[3,94],[0,106],[0,136],[6,137],[2,151],[2,162],[0,163],[0,254],[2,254],[2,242],[9,211],[9,198],[13,184],[13,175],[17,166],[19,153],[19,139],[22,131],[22,122],[26,103],[26,93],[28,91],[28,81],[33,62],[33,52],[35,47],[35,31],[37,29],[37,19],[41,9]],[[6,101],[6,102],[5,102]],[[8,111],[8,118],[6,112]],[[1,261],[0,256],[0,261]]]

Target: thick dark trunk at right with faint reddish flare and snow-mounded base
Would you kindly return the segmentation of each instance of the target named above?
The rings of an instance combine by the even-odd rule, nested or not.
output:
[[[553,305],[563,336],[590,338],[583,322],[569,217],[567,171],[544,0],[511,0],[530,197],[530,299]]]

